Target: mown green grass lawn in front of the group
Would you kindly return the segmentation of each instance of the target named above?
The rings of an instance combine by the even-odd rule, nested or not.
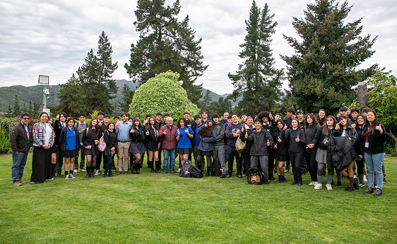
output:
[[[333,191],[308,186],[308,174],[291,186],[292,173],[252,186],[235,174],[150,174],[146,163],[142,175],[14,187],[11,165],[0,157],[0,243],[397,243],[397,157],[385,158],[381,197],[344,192],[345,178]]]

